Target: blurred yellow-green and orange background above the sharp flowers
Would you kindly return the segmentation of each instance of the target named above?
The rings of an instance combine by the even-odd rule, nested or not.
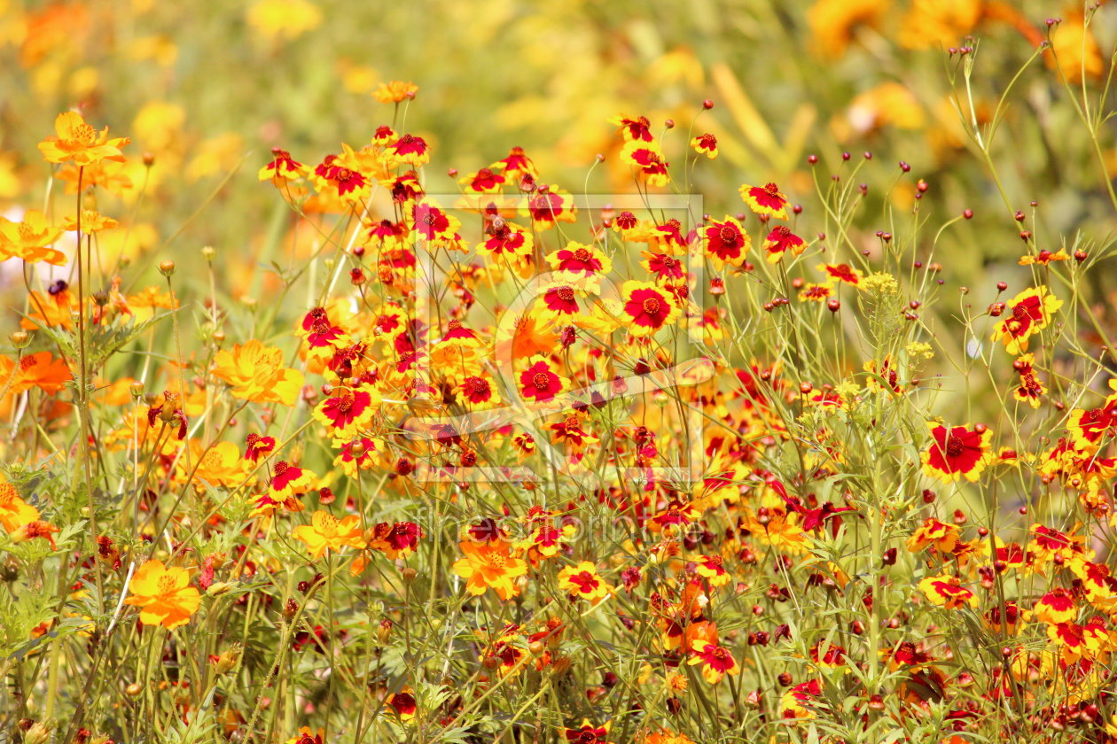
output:
[[[126,229],[103,233],[104,251],[175,258],[213,244],[246,269],[286,213],[256,176],[274,146],[314,165],[394,122],[433,145],[431,191],[457,189],[447,168],[522,146],[544,182],[601,193],[631,189],[609,157],[620,145],[609,118],[645,115],[657,134],[674,119],[665,149],[679,165],[688,132],[717,136],[720,156],[675,184],[712,213],[739,211],[736,187],[768,180],[810,205],[808,154],[825,182],[842,151],[855,162],[871,151],[857,176],[871,186],[867,245],[888,228],[880,207],[906,210],[920,177],[932,225],[976,214],[944,236],[945,271],[1011,279],[1027,271],[1012,210],[1034,212],[1052,250],[1076,230],[1102,241],[1117,229],[1114,122],[1090,137],[1081,100],[1067,100],[1105,87],[1117,12],[1085,18],[1058,0],[0,0],[0,213],[42,206],[50,168],[36,143],[70,107],[133,141],[134,187],[102,205]],[[1056,55],[1038,51],[1049,36]],[[948,52],[965,46],[977,46],[968,95],[964,56]],[[379,103],[389,80],[416,84],[416,99]],[[991,146],[999,189],[962,122],[992,120],[1010,84]],[[605,164],[591,168],[598,153]],[[901,160],[911,172],[898,186]]]

